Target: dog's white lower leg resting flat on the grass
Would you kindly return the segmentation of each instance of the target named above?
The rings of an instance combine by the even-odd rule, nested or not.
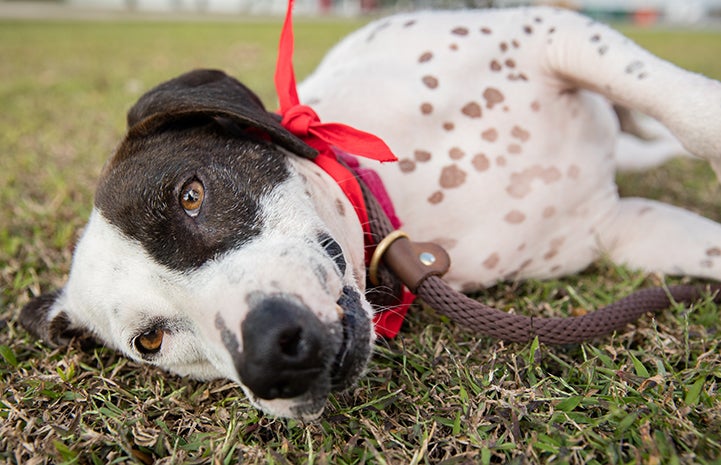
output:
[[[613,262],[669,275],[721,280],[721,224],[653,200],[621,199],[597,229]]]

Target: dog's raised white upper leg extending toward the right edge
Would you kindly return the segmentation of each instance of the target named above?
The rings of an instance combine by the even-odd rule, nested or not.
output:
[[[547,30],[546,66],[569,84],[596,91],[660,121],[721,179],[721,83],[668,63],[614,30],[559,12]]]

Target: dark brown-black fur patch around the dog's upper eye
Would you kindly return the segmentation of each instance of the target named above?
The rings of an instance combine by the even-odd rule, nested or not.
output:
[[[157,262],[181,271],[259,234],[259,200],[289,175],[287,155],[273,144],[230,135],[212,119],[176,121],[122,149],[103,173],[95,205]],[[195,217],[180,204],[192,179],[205,187]]]

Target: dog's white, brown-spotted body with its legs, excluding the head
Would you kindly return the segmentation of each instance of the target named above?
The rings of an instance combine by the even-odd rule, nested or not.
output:
[[[658,118],[717,162],[721,86],[603,25],[549,9],[396,16],[347,38],[300,91],[322,120],[390,145],[400,163],[378,171],[403,228],[445,245],[458,288],[574,273],[601,254],[721,278],[717,224],[619,200],[609,103]],[[654,144],[658,158],[672,147]]]

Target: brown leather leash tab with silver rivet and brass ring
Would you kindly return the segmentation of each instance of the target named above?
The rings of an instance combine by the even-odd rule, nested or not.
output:
[[[379,285],[381,260],[411,292],[415,293],[430,276],[443,276],[451,267],[448,252],[433,242],[412,242],[406,233],[395,230],[384,237],[373,252],[368,279]]]

